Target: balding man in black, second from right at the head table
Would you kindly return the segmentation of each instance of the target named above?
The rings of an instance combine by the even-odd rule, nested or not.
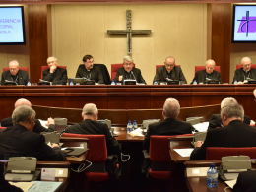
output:
[[[197,84],[205,84],[207,80],[218,80],[220,84],[222,84],[221,74],[218,71],[215,71],[215,61],[212,59],[206,61],[205,70],[196,72],[191,84],[193,84],[194,81],[196,81]]]

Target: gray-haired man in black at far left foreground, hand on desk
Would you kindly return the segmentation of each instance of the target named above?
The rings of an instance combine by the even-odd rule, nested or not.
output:
[[[22,105],[14,109],[13,127],[0,131],[0,160],[10,157],[34,157],[37,160],[62,161],[66,153],[57,144],[48,146],[43,135],[32,132],[35,111]]]

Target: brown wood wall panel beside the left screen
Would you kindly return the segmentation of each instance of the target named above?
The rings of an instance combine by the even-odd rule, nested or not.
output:
[[[41,66],[48,57],[47,5],[29,5],[30,71],[31,82],[41,77]]]

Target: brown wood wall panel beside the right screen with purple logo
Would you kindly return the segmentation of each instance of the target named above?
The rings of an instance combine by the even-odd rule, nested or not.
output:
[[[229,82],[231,5],[212,4],[212,59],[221,66],[223,83]]]

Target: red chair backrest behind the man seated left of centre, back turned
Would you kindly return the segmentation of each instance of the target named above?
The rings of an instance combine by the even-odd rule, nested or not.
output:
[[[78,137],[88,139],[88,148],[86,160],[92,162],[104,162],[107,158],[107,149],[104,135],[84,135],[64,133],[62,137]]]

